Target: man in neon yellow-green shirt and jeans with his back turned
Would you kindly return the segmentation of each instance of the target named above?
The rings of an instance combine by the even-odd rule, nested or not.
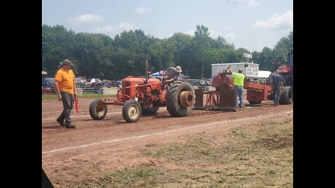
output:
[[[229,70],[229,72],[232,73],[232,77],[234,77],[235,107],[241,109],[243,108],[243,86],[244,86],[244,75],[242,74],[243,70],[240,68],[239,73],[232,72],[232,70],[230,70],[230,66],[231,65],[229,65],[227,70]],[[227,70],[225,71],[227,72]]]

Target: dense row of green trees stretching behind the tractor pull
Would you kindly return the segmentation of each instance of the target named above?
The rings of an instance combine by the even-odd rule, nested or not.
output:
[[[159,39],[146,35],[141,29],[123,31],[114,38],[101,33],[75,33],[64,26],[42,26],[42,70],[54,77],[65,58],[75,64],[76,76],[104,79],[124,79],[128,75],[145,75],[148,70],[158,72],[180,65],[183,74],[191,79],[211,77],[213,63],[246,62],[244,53],[253,55],[253,63],[260,70],[274,71],[287,61],[287,51],[293,48],[293,32],[282,37],[274,49],[264,47],[262,52],[235,49],[223,37],[211,38],[209,29],[197,25],[194,36],[174,33]],[[249,61],[251,62],[251,61]]]

